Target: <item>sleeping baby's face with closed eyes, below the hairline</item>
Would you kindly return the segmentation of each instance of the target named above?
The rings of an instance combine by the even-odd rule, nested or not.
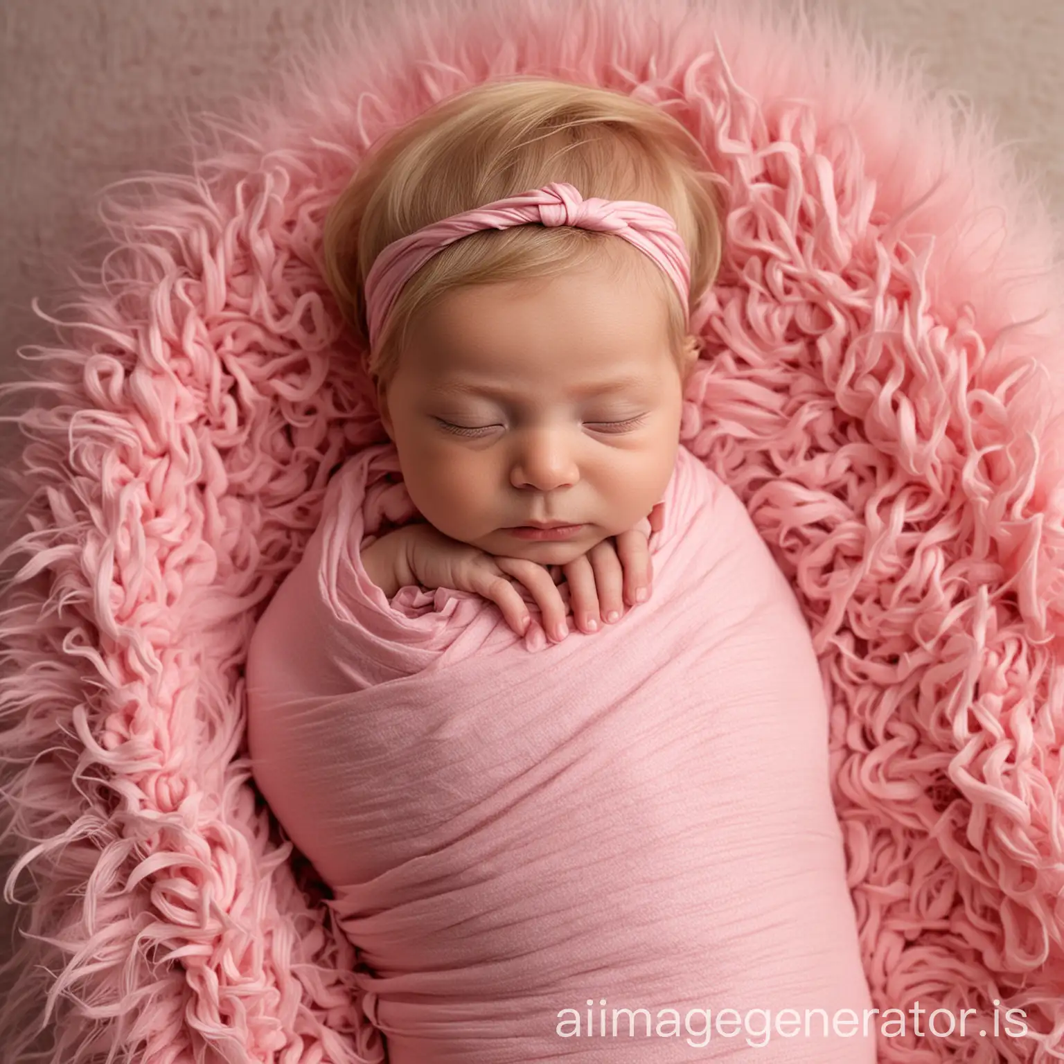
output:
[[[682,397],[661,296],[608,263],[448,293],[379,390],[426,520],[542,565],[565,565],[647,516],[672,475]],[[555,542],[514,533],[532,521],[581,528]]]

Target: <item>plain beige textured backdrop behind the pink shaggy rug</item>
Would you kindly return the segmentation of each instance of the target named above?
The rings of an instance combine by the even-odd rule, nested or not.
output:
[[[262,86],[286,41],[338,2],[0,0],[0,378],[19,376],[21,345],[51,342],[31,300],[50,313],[61,303],[64,252],[99,235],[93,193],[179,165],[180,110],[223,110]],[[837,9],[994,116],[1064,217],[1064,0],[807,2]],[[0,429],[3,461],[16,437]]]

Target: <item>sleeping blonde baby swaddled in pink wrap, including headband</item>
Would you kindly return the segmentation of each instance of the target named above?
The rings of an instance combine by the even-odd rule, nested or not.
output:
[[[680,444],[699,159],[648,104],[515,78],[330,213],[389,442],[255,629],[248,738],[393,1064],[876,1059],[810,633]]]

